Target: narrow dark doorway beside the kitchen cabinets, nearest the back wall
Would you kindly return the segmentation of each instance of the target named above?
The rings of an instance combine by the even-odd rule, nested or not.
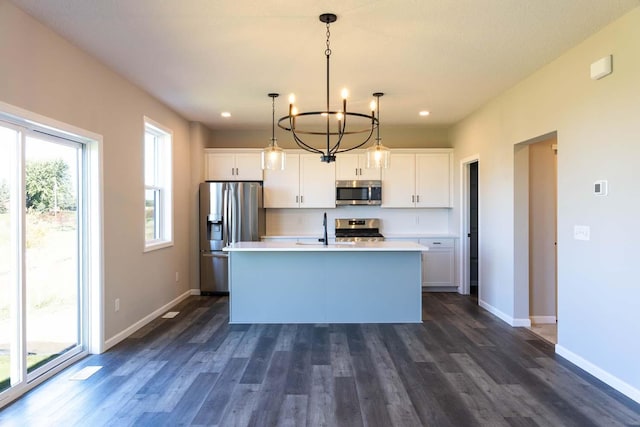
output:
[[[480,158],[476,154],[460,161],[461,169],[461,257],[460,293],[470,295],[476,303],[480,289]]]

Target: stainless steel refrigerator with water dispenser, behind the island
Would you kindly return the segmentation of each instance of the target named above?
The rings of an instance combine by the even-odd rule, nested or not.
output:
[[[200,184],[200,292],[229,292],[229,243],[258,241],[264,235],[261,182]]]

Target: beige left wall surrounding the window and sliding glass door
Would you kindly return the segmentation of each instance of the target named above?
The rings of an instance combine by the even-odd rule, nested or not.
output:
[[[104,137],[108,340],[189,290],[189,124],[6,0],[0,0],[0,64],[0,101]],[[143,253],[145,115],[174,132],[175,245],[149,253]]]

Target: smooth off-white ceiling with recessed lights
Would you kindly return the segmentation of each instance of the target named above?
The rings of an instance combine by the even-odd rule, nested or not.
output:
[[[295,93],[384,125],[450,125],[560,56],[640,0],[12,0],[185,118],[212,129],[268,128]],[[593,58],[595,61],[599,58]],[[589,64],[585,64],[588,73]],[[429,110],[428,117],[418,111]],[[220,113],[229,111],[230,118]]]

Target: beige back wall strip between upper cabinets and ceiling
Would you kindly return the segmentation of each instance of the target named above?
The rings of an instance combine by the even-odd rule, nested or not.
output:
[[[434,127],[380,127],[382,143],[390,148],[451,148],[449,128]],[[271,128],[251,130],[215,130],[211,132],[208,148],[262,148],[271,138]],[[276,128],[278,145],[282,148],[297,148],[288,132]],[[305,139],[306,141],[306,139]],[[350,141],[345,138],[345,141]],[[321,147],[319,141],[317,147]],[[370,146],[367,143],[363,148]]]

